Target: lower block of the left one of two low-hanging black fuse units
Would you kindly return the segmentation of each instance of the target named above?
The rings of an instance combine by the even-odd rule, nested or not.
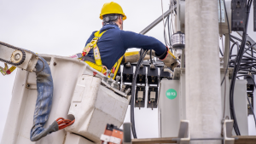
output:
[[[145,93],[146,89],[142,86],[137,86],[135,93],[135,105],[134,107],[145,107]]]

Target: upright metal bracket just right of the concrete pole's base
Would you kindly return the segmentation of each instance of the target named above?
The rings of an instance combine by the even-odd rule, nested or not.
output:
[[[235,138],[232,138],[232,130],[233,130],[233,120],[232,119],[224,119],[223,124],[223,134],[224,134],[224,144],[234,144]]]

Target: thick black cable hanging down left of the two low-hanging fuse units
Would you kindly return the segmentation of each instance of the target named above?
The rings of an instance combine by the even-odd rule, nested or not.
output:
[[[141,56],[140,59],[137,62],[137,66],[134,72],[134,76],[133,76],[133,80],[132,80],[132,86],[131,86],[131,131],[132,131],[132,135],[135,139],[137,139],[137,134],[136,134],[136,130],[135,130],[135,120],[134,120],[134,99],[135,99],[135,89],[136,89],[136,82],[137,82],[137,72],[139,69],[139,66],[141,66],[144,57],[147,54],[147,49],[146,50],[141,50]]]

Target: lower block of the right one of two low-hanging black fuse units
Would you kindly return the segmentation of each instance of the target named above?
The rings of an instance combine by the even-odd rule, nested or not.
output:
[[[158,87],[148,87],[147,108],[157,108]]]

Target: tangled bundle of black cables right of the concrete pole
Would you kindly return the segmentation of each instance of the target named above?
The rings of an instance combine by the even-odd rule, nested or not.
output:
[[[248,26],[248,19],[249,19],[249,12],[251,9],[251,5],[253,3],[253,0],[248,0],[247,2],[247,16],[246,16],[246,24],[245,24],[245,29],[242,33],[242,39],[239,39],[237,37],[231,36],[230,35],[230,41],[233,43],[231,46],[231,49],[229,49],[230,52],[230,56],[229,56],[229,66],[230,67],[234,67],[234,71],[232,74],[232,79],[231,79],[231,84],[230,84],[230,117],[231,119],[234,119],[234,130],[236,132],[236,135],[241,135],[238,124],[237,124],[237,120],[236,120],[236,113],[235,113],[235,107],[234,107],[234,89],[235,89],[235,84],[236,84],[236,78],[239,78],[241,76],[247,76],[250,78],[253,78],[251,75],[248,75],[247,73],[252,73],[252,74],[256,74],[256,71],[253,70],[253,68],[256,68],[256,57],[253,56],[253,53],[255,53],[253,51],[253,45],[255,45],[256,43],[254,43],[253,45],[250,45],[250,43],[247,43],[246,38],[247,38],[247,26]],[[226,7],[225,7],[225,2],[224,2],[224,9],[225,9],[225,15],[227,17],[227,12],[226,12]],[[227,18],[228,20],[228,18]],[[228,22],[228,26],[229,26],[229,22]],[[230,26],[229,26],[229,30],[230,30]],[[241,44],[239,45],[239,43],[235,42],[232,38],[239,40],[241,42]],[[232,55],[232,50],[234,48],[234,46],[236,45],[236,49],[237,49],[237,54],[236,55]],[[248,46],[247,48],[246,45]],[[251,49],[251,54],[247,53],[247,50]],[[220,51],[221,52],[221,51]],[[250,56],[247,56],[247,55]],[[226,71],[225,71],[225,75],[224,78],[221,82],[221,84],[223,84],[226,73],[227,73],[227,68],[226,67]],[[237,74],[245,74],[245,75],[239,75],[237,76]],[[254,82],[254,80],[253,80]],[[255,86],[255,83],[254,83]],[[255,86],[256,88],[256,86]],[[250,104],[251,109],[253,110],[253,107],[251,106],[251,103],[247,97],[247,100]],[[256,123],[256,118],[255,115],[253,113],[253,117]]]

